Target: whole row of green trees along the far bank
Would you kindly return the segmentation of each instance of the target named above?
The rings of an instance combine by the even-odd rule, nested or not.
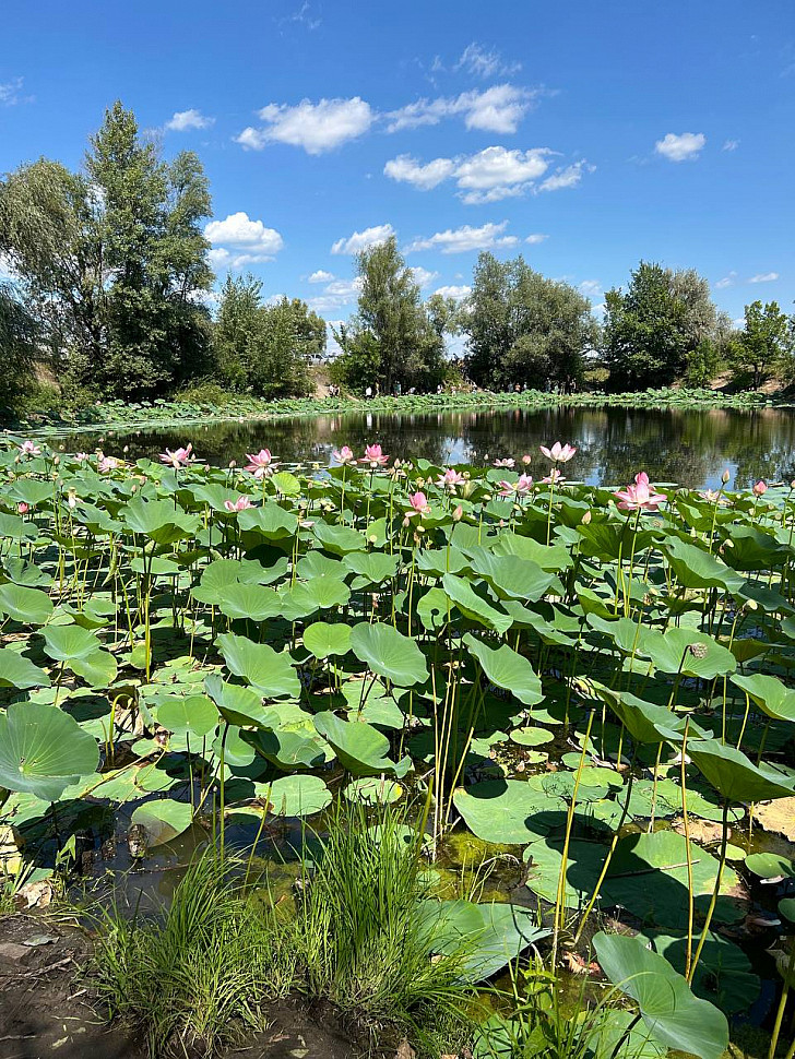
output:
[[[299,298],[265,299],[250,275],[228,275],[216,294],[211,215],[199,157],[164,160],[120,103],[79,171],[40,158],[5,175],[0,261],[13,278],[0,283],[0,400],[13,406],[48,386],[72,404],[153,398],[200,382],[266,398],[310,393],[325,321]],[[357,310],[334,330],[329,362],[354,393],[795,380],[795,317],[755,301],[735,326],[693,270],[640,262],[605,294],[598,321],[581,291],[521,257],[480,253],[462,300],[424,298],[394,238],[356,264]]]

